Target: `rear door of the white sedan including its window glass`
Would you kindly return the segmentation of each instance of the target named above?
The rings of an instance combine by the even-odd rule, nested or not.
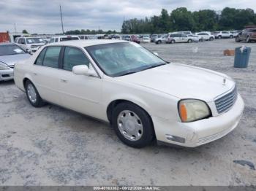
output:
[[[61,104],[59,96],[59,57],[61,46],[45,47],[37,57],[32,81],[45,101]]]

